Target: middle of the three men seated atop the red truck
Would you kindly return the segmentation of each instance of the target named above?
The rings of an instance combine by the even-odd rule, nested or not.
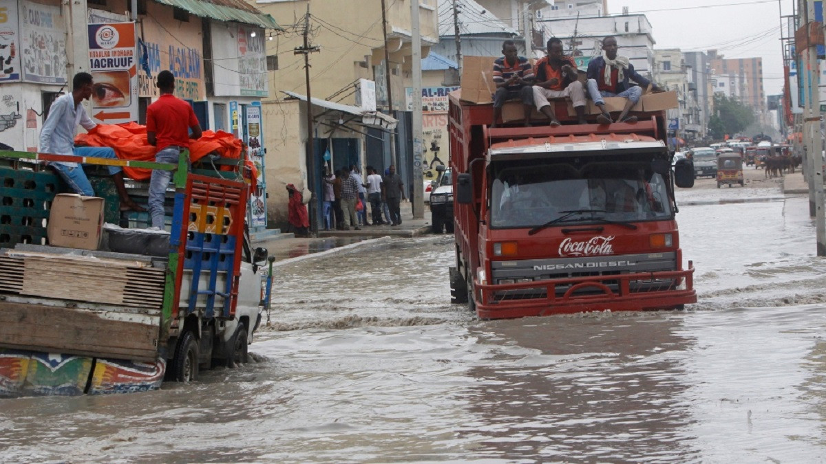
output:
[[[548,56],[536,63],[534,104],[548,119],[550,125],[559,125],[548,98],[571,98],[580,124],[585,124],[585,88],[577,80],[577,64],[570,56],[563,55],[563,41],[557,37],[548,39]]]

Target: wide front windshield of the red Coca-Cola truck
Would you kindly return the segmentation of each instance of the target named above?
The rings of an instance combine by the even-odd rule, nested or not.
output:
[[[491,226],[543,225],[569,211],[560,223],[672,218],[666,182],[645,163],[525,165],[496,172],[491,186]]]

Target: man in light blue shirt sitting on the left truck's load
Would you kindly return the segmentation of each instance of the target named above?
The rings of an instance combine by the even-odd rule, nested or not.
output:
[[[58,97],[49,109],[49,116],[40,130],[40,151],[49,154],[66,154],[87,158],[117,159],[115,150],[109,147],[75,147],[74,134],[79,125],[92,131],[97,124],[86,114],[80,102],[92,97],[93,80],[90,73],[77,73],[72,79],[72,92]],[[52,168],[60,173],[74,192],[85,196],[95,196],[95,191],[83,166],[80,163],[53,161]],[[146,211],[138,206],[126,193],[123,185],[123,169],[120,166],[108,166],[109,174],[115,181],[117,195],[121,198],[121,211]]]

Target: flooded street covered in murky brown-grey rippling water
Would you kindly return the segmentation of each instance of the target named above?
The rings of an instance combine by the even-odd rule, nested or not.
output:
[[[3,462],[819,462],[824,260],[805,197],[680,191],[700,302],[480,321],[452,238],[278,267],[258,362],[0,402]]]

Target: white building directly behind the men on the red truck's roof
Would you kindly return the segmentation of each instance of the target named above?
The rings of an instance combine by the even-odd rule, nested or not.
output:
[[[549,18],[538,23],[544,41],[558,37],[563,40],[566,53],[576,49],[577,65],[582,69],[586,69],[592,57],[602,53],[602,39],[615,36],[619,54],[629,57],[638,73],[651,76],[656,42],[645,15]]]

